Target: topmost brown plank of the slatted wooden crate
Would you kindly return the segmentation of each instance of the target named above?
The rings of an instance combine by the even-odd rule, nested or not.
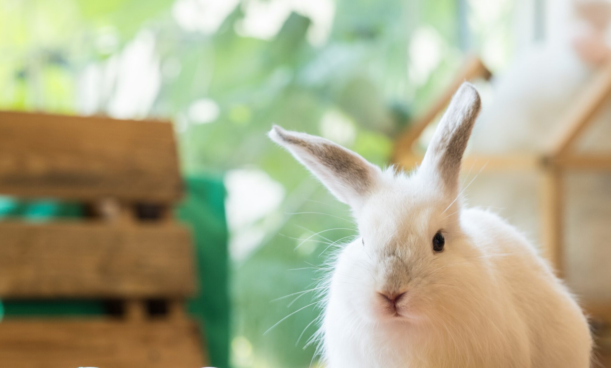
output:
[[[181,190],[170,123],[0,112],[0,194],[172,202]]]

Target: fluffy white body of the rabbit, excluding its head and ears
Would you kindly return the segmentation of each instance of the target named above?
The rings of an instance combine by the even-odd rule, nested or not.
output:
[[[360,241],[346,246],[323,325],[329,368],[590,367],[587,321],[535,249],[490,212],[470,208],[460,222],[469,256],[459,278],[431,286],[439,306],[422,323],[357,317],[344,294],[368,256]]]

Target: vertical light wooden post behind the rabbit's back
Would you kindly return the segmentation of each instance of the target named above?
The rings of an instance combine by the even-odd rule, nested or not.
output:
[[[541,172],[541,213],[543,215],[543,251],[560,278],[563,276],[564,190],[562,171],[554,166]]]

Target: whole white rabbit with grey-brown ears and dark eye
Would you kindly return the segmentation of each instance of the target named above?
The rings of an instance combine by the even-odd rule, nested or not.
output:
[[[422,165],[382,171],[331,141],[274,127],[357,220],[321,332],[329,368],[590,366],[580,307],[519,232],[464,208],[459,172],[480,97],[456,92]]]

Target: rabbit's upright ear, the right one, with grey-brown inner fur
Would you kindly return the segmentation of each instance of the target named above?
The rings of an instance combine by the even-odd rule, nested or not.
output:
[[[433,172],[450,195],[458,192],[463,153],[480,107],[480,95],[475,87],[463,83],[437,125],[420,166],[421,171]]]

